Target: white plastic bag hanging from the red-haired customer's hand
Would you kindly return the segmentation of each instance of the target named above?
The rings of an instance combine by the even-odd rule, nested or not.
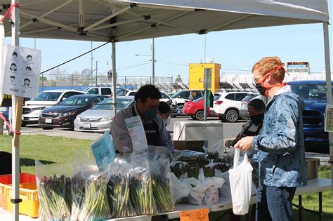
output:
[[[240,159],[240,149],[235,149],[233,159],[233,169],[229,170],[231,199],[233,200],[233,213],[244,215],[249,212],[249,202],[251,199],[252,187],[252,166],[244,154],[242,162]]]

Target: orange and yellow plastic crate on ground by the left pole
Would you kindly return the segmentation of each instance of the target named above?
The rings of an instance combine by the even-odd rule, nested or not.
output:
[[[0,175],[0,206],[12,210],[11,189],[12,175]],[[20,173],[20,199],[19,213],[38,217],[39,200],[37,195],[36,177],[29,173]]]

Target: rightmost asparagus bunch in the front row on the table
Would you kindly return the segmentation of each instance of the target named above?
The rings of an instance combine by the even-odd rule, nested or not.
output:
[[[152,176],[152,193],[159,213],[174,211],[174,196],[171,193],[169,182],[161,176]]]

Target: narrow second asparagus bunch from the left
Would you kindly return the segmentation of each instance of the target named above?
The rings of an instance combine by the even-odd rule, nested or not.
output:
[[[81,174],[74,175],[72,178],[72,215],[71,220],[78,220],[80,217],[80,212],[82,204],[84,201],[86,181]]]

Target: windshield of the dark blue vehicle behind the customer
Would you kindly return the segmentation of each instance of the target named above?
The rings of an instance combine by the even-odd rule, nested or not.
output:
[[[303,100],[327,100],[326,84],[291,84],[292,91],[299,95]]]

